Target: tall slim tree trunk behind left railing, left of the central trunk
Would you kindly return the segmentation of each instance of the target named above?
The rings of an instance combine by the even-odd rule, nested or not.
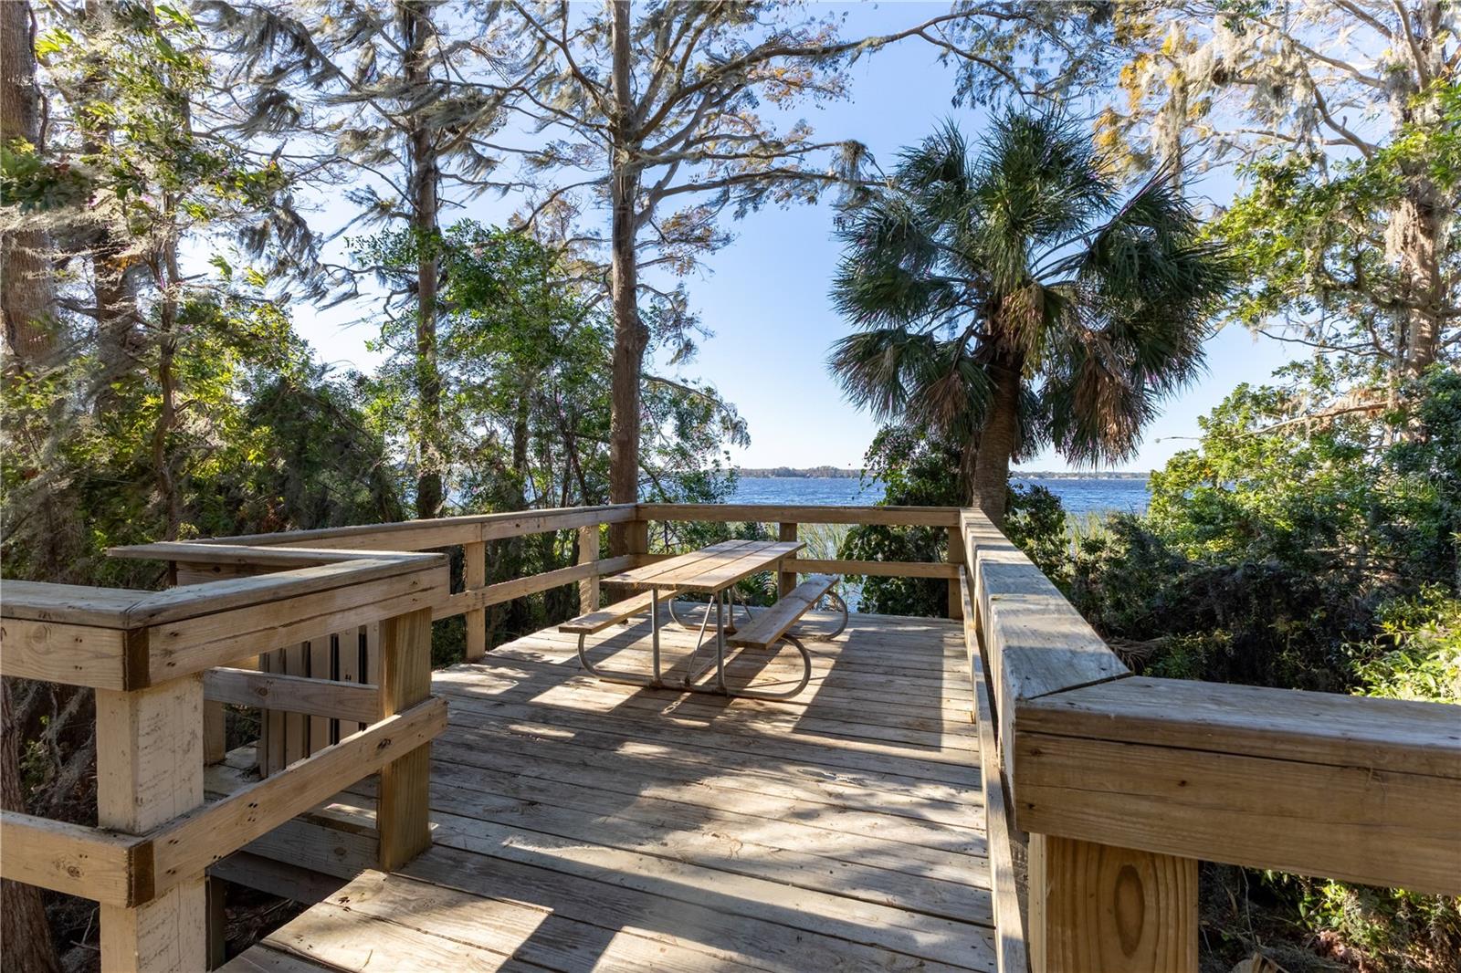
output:
[[[428,45],[432,42],[430,7],[422,0],[400,4],[402,39],[406,47],[406,85],[416,91],[431,80]],[[411,168],[411,219],[416,231],[416,396],[421,409],[416,430],[416,517],[441,516],[441,371],[437,364],[437,219],[441,165],[431,129],[419,118],[408,121]]]

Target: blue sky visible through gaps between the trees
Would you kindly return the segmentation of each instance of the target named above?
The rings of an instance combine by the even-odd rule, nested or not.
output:
[[[894,3],[856,7],[846,34],[884,32],[947,10],[947,3]],[[823,139],[858,139],[880,162],[929,134],[944,120],[966,133],[979,131],[983,114],[950,105],[951,69],[938,64],[931,45],[904,41],[855,64],[844,102],[805,107],[805,117]],[[1211,177],[1198,188],[1226,202],[1233,184]],[[454,210],[447,219],[470,216],[503,222],[517,200],[484,199]],[[332,207],[327,207],[327,212]],[[704,260],[687,286],[704,326],[713,332],[682,374],[712,381],[736,405],[749,427],[751,446],[733,450],[742,466],[861,466],[877,431],[869,416],[855,411],[827,374],[824,361],[833,340],[847,326],[831,308],[827,285],[839,256],[833,240],[831,200],[787,210],[767,209],[730,225],[735,241]],[[335,308],[318,316],[297,314],[295,326],[329,362],[370,370],[377,358],[365,349],[374,336],[367,324],[348,324],[365,308]],[[1145,432],[1137,459],[1119,469],[1160,468],[1173,453],[1191,447],[1197,418],[1242,381],[1259,383],[1293,355],[1290,346],[1255,337],[1240,327],[1218,332],[1207,346],[1208,374],[1169,400]],[[1026,469],[1068,469],[1053,453],[1023,463]]]

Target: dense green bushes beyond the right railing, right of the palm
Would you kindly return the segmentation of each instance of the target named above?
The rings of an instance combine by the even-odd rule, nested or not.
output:
[[[1455,590],[1461,375],[1296,421],[1330,378],[1239,387],[1151,476],[1145,517],[1077,545],[1069,592],[1097,630],[1166,675],[1344,691],[1386,602]]]

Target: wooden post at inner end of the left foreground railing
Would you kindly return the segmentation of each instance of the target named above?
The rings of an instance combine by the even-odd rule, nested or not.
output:
[[[380,719],[430,695],[431,609],[384,619],[380,624]],[[381,767],[375,806],[381,871],[394,871],[431,846],[430,783],[430,744]]]

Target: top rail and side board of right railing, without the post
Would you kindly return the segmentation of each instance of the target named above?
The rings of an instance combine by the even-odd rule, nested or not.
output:
[[[982,513],[963,533],[1021,830],[1461,891],[1461,709],[1134,676]]]

